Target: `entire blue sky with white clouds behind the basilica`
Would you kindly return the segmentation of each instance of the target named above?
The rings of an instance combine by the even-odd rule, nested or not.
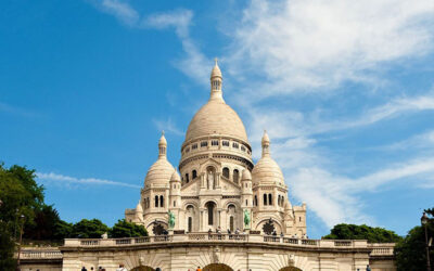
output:
[[[434,206],[431,0],[0,7],[0,159],[37,169],[67,221],[112,225],[135,207],[163,129],[178,164],[215,56],[310,236],[339,222],[405,234]]]

